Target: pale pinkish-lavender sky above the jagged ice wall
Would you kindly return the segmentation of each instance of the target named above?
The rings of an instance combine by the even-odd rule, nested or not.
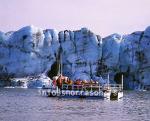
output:
[[[150,26],[150,0],[0,0],[0,30],[87,27],[102,37]]]

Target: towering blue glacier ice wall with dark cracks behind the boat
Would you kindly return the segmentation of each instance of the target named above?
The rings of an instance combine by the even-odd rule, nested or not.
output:
[[[123,74],[127,88],[150,85],[150,27],[105,38],[87,28],[57,32],[27,26],[15,32],[0,32],[0,77],[55,75],[60,53],[63,74],[73,80],[105,83],[101,76],[110,73],[112,83],[120,83]]]

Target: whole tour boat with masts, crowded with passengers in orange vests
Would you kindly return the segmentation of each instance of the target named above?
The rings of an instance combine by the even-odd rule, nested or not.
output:
[[[48,97],[97,97],[116,100],[123,97],[123,75],[121,84],[110,84],[109,74],[107,84],[101,85],[98,81],[70,80],[62,75],[62,60],[60,55],[59,73],[53,77],[49,87],[43,87],[42,95]]]

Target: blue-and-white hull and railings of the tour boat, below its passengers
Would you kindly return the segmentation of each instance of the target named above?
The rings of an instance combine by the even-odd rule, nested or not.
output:
[[[102,97],[110,99],[111,96],[123,97],[123,87],[121,84],[63,84],[61,88],[57,86],[44,88],[42,93],[49,97]]]

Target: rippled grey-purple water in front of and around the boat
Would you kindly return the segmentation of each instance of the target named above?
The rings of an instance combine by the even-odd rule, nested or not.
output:
[[[0,88],[0,121],[150,121],[150,92],[125,91],[122,100],[109,101]]]

